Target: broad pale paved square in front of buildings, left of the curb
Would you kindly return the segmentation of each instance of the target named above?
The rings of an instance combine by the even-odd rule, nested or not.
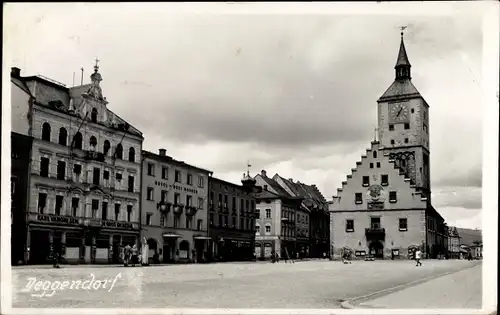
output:
[[[309,261],[128,268],[13,268],[12,302],[13,307],[22,308],[339,308],[342,300],[480,264],[459,260],[423,263],[422,267],[415,267],[413,261],[354,261],[347,265],[337,261]],[[92,278],[94,281],[90,283]],[[39,287],[43,282],[37,285],[38,280],[52,286],[54,294],[33,296],[44,292]],[[70,285],[71,281],[76,280],[88,281],[78,289],[71,289],[70,286],[75,285]],[[70,282],[62,290],[60,285],[64,285],[64,281]],[[51,292],[49,288],[45,294]]]

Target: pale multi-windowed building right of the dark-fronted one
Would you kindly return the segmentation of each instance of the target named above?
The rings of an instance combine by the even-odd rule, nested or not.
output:
[[[269,259],[275,252],[281,257],[296,257],[296,215],[300,211],[302,198],[287,193],[276,181],[267,177],[266,171],[254,177],[262,191],[257,199],[255,233],[255,255],[258,259]]]

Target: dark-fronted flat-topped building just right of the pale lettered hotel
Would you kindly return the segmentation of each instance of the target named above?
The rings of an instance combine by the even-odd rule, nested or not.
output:
[[[253,178],[244,185],[210,177],[209,235],[212,257],[217,261],[252,260],[255,247],[255,197]]]

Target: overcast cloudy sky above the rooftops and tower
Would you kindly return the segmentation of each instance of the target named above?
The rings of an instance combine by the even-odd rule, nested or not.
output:
[[[403,4],[406,5],[406,4]],[[330,200],[373,140],[376,100],[394,80],[399,29],[430,105],[433,204],[481,227],[482,24],[444,16],[195,14],[163,4],[15,4],[12,64],[68,86],[100,61],[109,108],[144,149],[239,183],[267,170]],[[12,21],[12,20],[11,20]]]

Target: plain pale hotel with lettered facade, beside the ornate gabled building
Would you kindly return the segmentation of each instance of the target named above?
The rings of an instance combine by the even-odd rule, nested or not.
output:
[[[142,151],[142,237],[154,262],[206,261],[208,178],[212,172]]]

